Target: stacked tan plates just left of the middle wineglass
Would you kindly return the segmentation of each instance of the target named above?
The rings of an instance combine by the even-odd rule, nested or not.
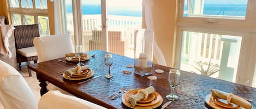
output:
[[[63,73],[63,78],[68,79],[68,80],[82,80],[82,79],[87,79],[93,76],[94,71],[91,69],[85,69],[79,74],[72,74],[72,75],[67,75],[66,73]]]

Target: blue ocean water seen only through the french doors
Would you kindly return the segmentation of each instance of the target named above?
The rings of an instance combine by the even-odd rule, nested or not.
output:
[[[66,5],[67,13],[72,13],[72,5]],[[101,14],[100,5],[82,5],[82,15],[93,15]],[[122,9],[108,9],[108,15],[119,15],[119,16],[142,16],[142,10],[133,10],[133,8],[122,8]]]

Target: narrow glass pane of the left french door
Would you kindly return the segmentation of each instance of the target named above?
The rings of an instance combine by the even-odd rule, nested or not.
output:
[[[82,46],[84,51],[102,49],[102,11],[100,0],[83,0],[82,5]]]

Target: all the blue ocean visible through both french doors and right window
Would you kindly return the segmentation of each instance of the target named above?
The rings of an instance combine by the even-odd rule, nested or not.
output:
[[[72,5],[67,4],[67,13],[72,13]],[[136,7],[138,8],[138,7]],[[187,11],[187,5],[184,6],[184,11]],[[167,10],[168,11],[168,10]],[[82,5],[83,15],[94,15],[101,14],[100,5]],[[246,15],[246,4],[204,4],[204,15],[226,15],[226,16],[245,16]],[[119,15],[119,16],[142,16],[142,10],[134,10],[134,7],[123,7],[123,8],[108,8],[108,15]],[[188,16],[184,12],[183,16]]]

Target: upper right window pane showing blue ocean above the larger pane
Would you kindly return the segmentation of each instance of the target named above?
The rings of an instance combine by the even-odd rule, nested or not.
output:
[[[245,20],[247,0],[184,0],[184,17],[225,17]]]

